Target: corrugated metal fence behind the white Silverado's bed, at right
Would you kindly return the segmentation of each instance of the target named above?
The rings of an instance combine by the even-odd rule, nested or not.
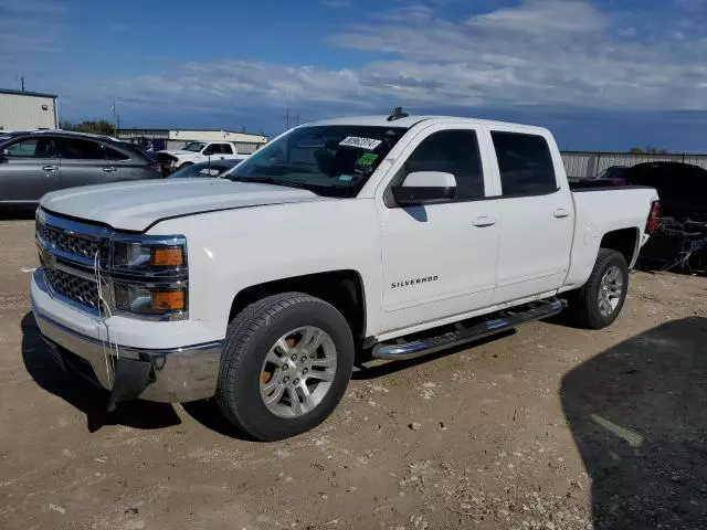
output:
[[[643,162],[685,162],[707,169],[707,155],[631,155],[627,152],[563,151],[568,177],[595,177],[611,166],[635,166]]]

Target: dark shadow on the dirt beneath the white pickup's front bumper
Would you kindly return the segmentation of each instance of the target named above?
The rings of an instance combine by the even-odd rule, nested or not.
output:
[[[22,318],[21,327],[22,360],[27,371],[42,389],[86,414],[89,432],[105,425],[154,430],[181,423],[172,405],[166,403],[133,401],[122,403],[115,412],[107,413],[108,392],[81,375],[61,369],[49,353],[31,312]]]

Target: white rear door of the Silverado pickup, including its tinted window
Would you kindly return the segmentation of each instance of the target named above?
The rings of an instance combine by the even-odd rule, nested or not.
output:
[[[494,303],[555,290],[567,276],[574,230],[567,179],[557,174],[563,169],[555,140],[549,134],[503,126],[487,132],[502,188]]]

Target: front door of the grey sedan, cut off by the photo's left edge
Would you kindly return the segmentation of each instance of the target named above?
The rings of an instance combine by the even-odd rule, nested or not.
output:
[[[3,147],[0,160],[0,201],[38,202],[61,188],[61,166],[55,138],[23,137]]]

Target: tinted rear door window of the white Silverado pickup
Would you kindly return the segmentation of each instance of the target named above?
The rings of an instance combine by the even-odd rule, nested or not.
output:
[[[504,195],[534,195],[557,190],[555,166],[545,138],[500,131],[493,131],[490,136]]]

